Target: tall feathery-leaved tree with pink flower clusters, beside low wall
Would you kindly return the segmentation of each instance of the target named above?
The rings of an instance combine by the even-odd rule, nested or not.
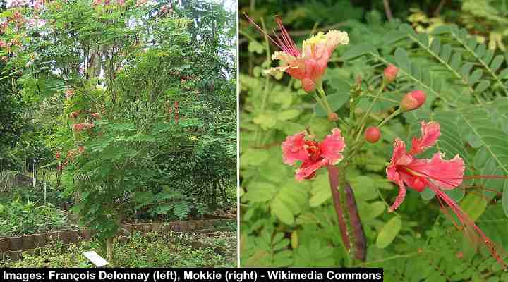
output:
[[[47,166],[61,171],[64,192],[75,195],[73,212],[110,260],[126,215],[185,219],[222,198],[215,193],[222,185],[213,186],[212,201],[201,195],[208,183],[186,179],[202,174],[194,168],[210,160],[203,151],[223,144],[212,162],[223,171],[208,175],[210,185],[229,182],[234,171],[226,147],[235,142],[234,80],[224,71],[200,83],[210,78],[202,54],[217,58],[223,47],[195,45],[186,13],[171,2],[83,0],[16,2],[2,14],[1,55],[11,75],[22,75],[17,91],[57,104],[47,137],[55,158]],[[227,66],[222,60],[208,63]]]

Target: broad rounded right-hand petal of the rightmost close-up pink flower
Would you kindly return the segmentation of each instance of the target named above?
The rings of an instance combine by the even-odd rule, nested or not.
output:
[[[451,190],[461,185],[464,178],[464,160],[457,154],[453,159],[444,160],[437,152],[429,161],[428,178],[442,190]]]

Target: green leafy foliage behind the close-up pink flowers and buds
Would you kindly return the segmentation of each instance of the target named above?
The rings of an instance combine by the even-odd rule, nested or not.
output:
[[[384,126],[380,142],[365,146],[346,171],[368,244],[366,262],[356,265],[384,267],[387,281],[508,281],[485,247],[475,253],[430,190],[409,190],[397,213],[388,214],[397,188],[385,175],[395,137],[407,143],[419,135],[419,123],[425,120],[441,124],[437,149],[447,158],[460,154],[466,174],[508,176],[508,54],[499,42],[488,42],[495,23],[488,30],[468,24],[483,23],[494,13],[472,12],[471,1],[444,1],[441,8],[440,1],[389,2],[394,2],[392,20],[387,20],[382,1],[240,1],[240,13],[248,13],[266,30],[276,29],[274,15],[282,16],[298,46],[316,30],[349,32],[350,44],[337,48],[324,78],[339,116],[366,110],[387,63],[399,68],[399,76],[375,104],[368,125],[390,114],[406,92],[428,94],[421,109]],[[485,11],[507,11],[495,1],[484,2]],[[414,19],[422,15],[426,20]],[[445,24],[452,20],[457,25]],[[280,148],[287,135],[307,126],[318,140],[333,126],[300,82],[289,75],[261,75],[262,69],[276,66],[270,54],[277,49],[245,18],[240,32],[241,264],[344,266],[326,172],[298,183],[294,168],[282,163]],[[477,36],[482,32],[485,43]],[[349,109],[350,91],[360,78],[364,97],[356,109]],[[458,188],[450,197],[460,201],[506,257],[508,181],[478,179],[464,186],[473,192]]]

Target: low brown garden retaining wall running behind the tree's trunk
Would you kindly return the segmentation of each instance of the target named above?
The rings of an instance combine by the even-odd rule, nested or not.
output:
[[[202,221],[171,221],[167,223],[139,223],[125,224],[123,227],[130,233],[138,231],[141,234],[150,232],[189,232],[199,231],[211,226],[217,226],[228,220],[210,219]],[[61,241],[64,244],[77,243],[80,240],[90,240],[92,233],[87,230],[54,231],[32,235],[13,236],[0,238],[0,260],[11,257],[18,260],[21,252],[35,253],[44,249],[47,244]]]

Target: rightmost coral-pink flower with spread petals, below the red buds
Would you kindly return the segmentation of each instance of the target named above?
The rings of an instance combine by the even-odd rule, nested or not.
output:
[[[444,160],[442,154],[437,152],[431,159],[417,159],[421,154],[432,147],[441,135],[439,123],[421,123],[421,137],[413,137],[411,150],[406,152],[404,141],[397,138],[394,142],[392,161],[386,169],[387,177],[399,185],[399,195],[392,207],[393,212],[404,201],[406,196],[405,185],[422,192],[425,187],[441,190],[451,190],[462,183],[464,176],[464,161],[456,155],[453,159]]]

